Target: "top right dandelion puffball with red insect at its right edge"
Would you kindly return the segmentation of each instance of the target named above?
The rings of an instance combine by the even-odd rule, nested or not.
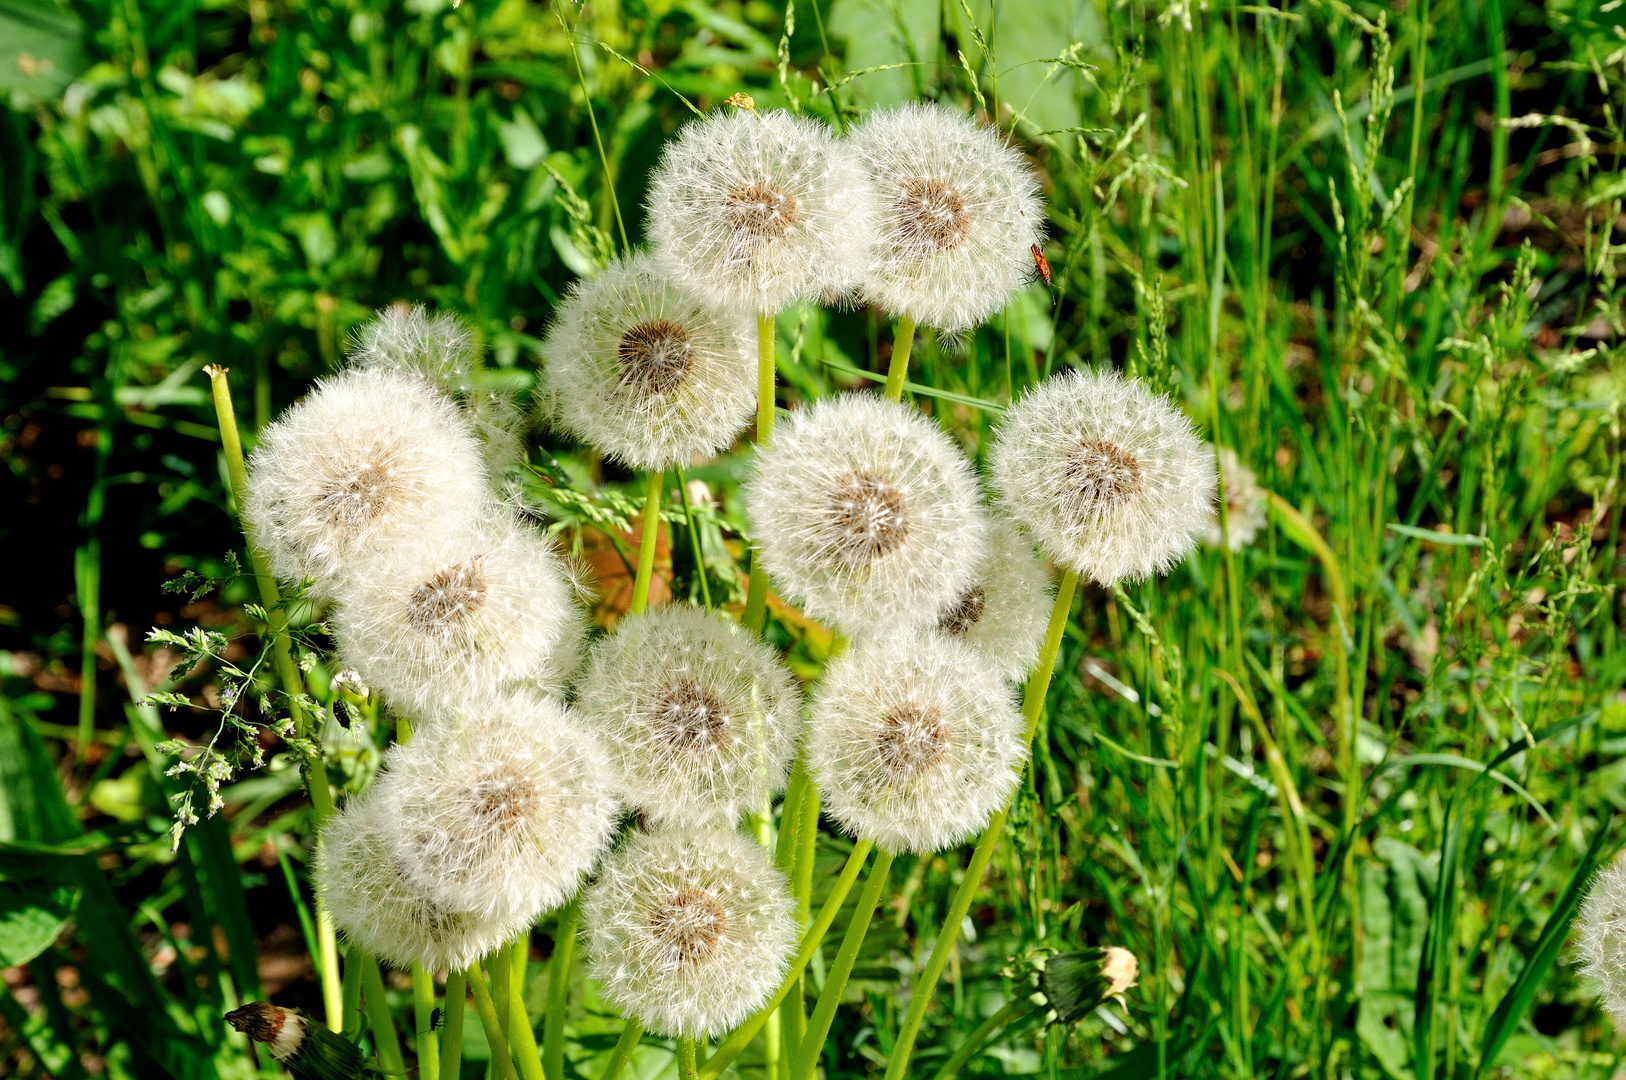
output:
[[[881,208],[863,299],[964,333],[1033,277],[1039,184],[995,128],[946,106],[904,104],[865,117],[852,148]]]

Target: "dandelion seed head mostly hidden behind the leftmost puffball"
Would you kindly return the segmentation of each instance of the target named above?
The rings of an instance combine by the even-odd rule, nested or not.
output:
[[[525,418],[511,390],[480,377],[478,359],[468,324],[452,312],[429,314],[423,304],[379,309],[350,345],[351,368],[420,376],[462,405],[485,446],[486,465],[501,475],[525,459]]]

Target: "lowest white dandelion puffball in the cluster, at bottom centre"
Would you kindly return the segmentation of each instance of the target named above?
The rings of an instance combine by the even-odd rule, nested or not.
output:
[[[654,1034],[714,1038],[779,987],[793,906],[767,852],[733,830],[636,833],[582,898],[589,973]]]

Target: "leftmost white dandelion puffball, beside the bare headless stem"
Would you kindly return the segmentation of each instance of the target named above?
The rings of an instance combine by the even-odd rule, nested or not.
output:
[[[341,371],[260,433],[242,517],[280,581],[325,599],[356,556],[465,529],[488,499],[457,405],[416,376]]]

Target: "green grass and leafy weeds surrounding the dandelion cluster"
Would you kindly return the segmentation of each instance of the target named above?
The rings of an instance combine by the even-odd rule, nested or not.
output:
[[[1280,496],[1236,556],[1081,590],[912,1075],[1018,991],[1000,969],[1041,943],[1125,945],[1140,986],[1070,1030],[1018,1026],[963,1075],[1616,1070],[1563,942],[1577,883],[1626,839],[1626,16],[997,8],[802,0],[792,33],[761,0],[567,21],[517,0],[98,0],[73,18],[0,0],[0,1072],[247,1077],[226,1008],[273,986],[319,1010],[286,747],[268,740],[268,768],[207,817],[164,743],[226,724],[220,672],[164,683],[192,706],[133,703],[167,675],[153,625],[224,634],[221,664],[259,655],[202,366],[231,368],[252,431],[372,307],[423,299],[476,327],[491,384],[528,392],[556,298],[623,224],[641,241],[688,102],[740,89],[837,125],[912,96],[997,111],[1033,153],[1054,298],[1034,283],[961,346],[915,342],[909,389],[969,449],[1024,385],[1119,364]],[[1561,119],[1506,122],[1532,114]],[[789,311],[779,337],[785,405],[886,371],[868,311]],[[580,550],[639,498],[553,436],[532,462]],[[719,602],[743,600],[727,545],[746,465],[686,473],[722,496],[696,525]],[[698,597],[673,529],[673,589]],[[161,590],[184,573],[205,592]],[[816,673],[816,629],[769,633]],[[328,708],[343,691],[311,659]],[[366,709],[330,724],[335,782],[363,786],[389,737]],[[202,820],[172,854],[187,792]],[[815,904],[844,854],[823,838]],[[828,1075],[881,1072],[964,857],[893,867]],[[540,1018],[548,922],[533,953]],[[410,989],[390,986],[410,1033]],[[597,1077],[618,1030],[574,987],[567,1075]],[[470,1034],[465,1075],[485,1056]],[[740,1060],[759,1075],[756,1051]],[[634,1067],[673,1069],[670,1049],[650,1038]]]

